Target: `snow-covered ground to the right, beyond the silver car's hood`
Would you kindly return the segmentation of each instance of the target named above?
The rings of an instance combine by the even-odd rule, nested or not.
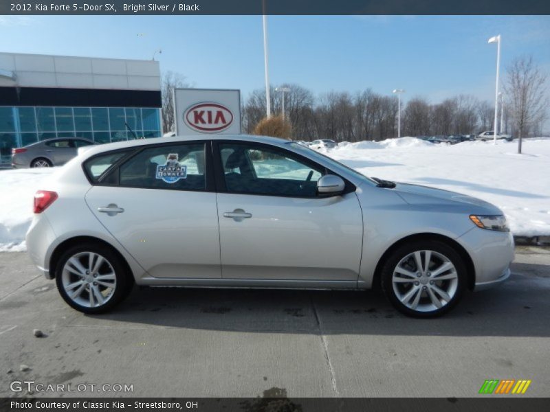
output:
[[[340,144],[327,155],[368,176],[468,194],[500,207],[516,236],[550,235],[550,139]]]

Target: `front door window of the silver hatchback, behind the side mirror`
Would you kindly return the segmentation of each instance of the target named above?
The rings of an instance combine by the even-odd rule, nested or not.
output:
[[[255,144],[220,144],[228,192],[272,196],[314,197],[325,174],[320,165],[292,152]]]

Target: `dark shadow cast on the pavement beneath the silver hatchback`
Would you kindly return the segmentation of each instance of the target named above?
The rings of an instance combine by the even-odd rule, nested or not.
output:
[[[500,288],[465,293],[437,319],[397,312],[380,291],[136,287],[108,314],[164,328],[255,333],[412,336],[550,336],[550,282],[512,275]]]

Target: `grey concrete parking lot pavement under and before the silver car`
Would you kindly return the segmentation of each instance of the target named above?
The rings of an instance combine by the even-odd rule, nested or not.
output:
[[[371,291],[184,288],[135,288],[114,312],[87,316],[26,253],[0,253],[0,394],[28,396],[10,382],[34,380],[133,385],[117,396],[470,397],[509,378],[547,396],[550,249],[518,248],[512,269],[432,320]]]

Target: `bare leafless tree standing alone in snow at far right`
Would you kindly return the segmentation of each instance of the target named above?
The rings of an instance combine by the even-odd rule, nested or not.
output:
[[[529,128],[542,123],[547,116],[546,80],[547,74],[540,71],[531,56],[516,58],[507,69],[504,90],[509,98],[511,121],[518,133],[518,153]]]

